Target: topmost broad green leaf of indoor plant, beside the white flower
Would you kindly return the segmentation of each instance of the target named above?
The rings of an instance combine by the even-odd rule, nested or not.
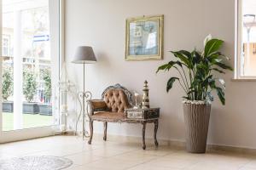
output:
[[[207,42],[207,45],[205,47],[205,57],[208,57],[209,55],[216,53],[219,48],[221,48],[224,41],[219,39],[212,39]]]

